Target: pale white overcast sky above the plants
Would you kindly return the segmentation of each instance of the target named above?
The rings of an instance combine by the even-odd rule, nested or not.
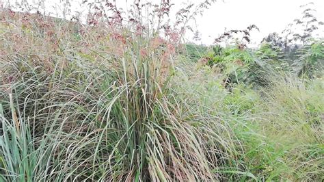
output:
[[[0,0],[14,3],[19,0]],[[25,0],[23,0],[25,1]],[[27,0],[35,2],[37,0]],[[42,0],[47,9],[53,9],[55,3],[66,0]],[[68,0],[72,3],[74,11],[82,11],[79,3],[83,0]],[[91,1],[91,0],[90,0]],[[132,0],[116,0],[120,7]],[[159,0],[146,0],[157,2]],[[184,2],[198,3],[204,0],[173,0],[174,10],[183,7]],[[245,29],[249,25],[256,25],[260,31],[252,31],[252,44],[258,44],[262,38],[272,32],[281,32],[288,23],[292,23],[295,18],[301,16],[303,11],[300,5],[314,2],[319,21],[324,21],[324,0],[218,0],[203,16],[196,17],[200,41],[193,41],[192,35],[187,34],[187,41],[198,44],[213,44],[215,38],[224,33],[224,30]],[[324,26],[322,26],[321,36],[324,37]]]

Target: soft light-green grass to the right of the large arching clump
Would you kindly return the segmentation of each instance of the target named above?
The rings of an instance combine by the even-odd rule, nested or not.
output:
[[[232,142],[237,166],[222,172],[243,180],[323,180],[323,79],[273,69],[267,86],[256,90],[241,82],[228,89],[219,70],[177,68],[183,70],[174,80],[182,83],[176,88],[181,98],[231,129],[230,138],[222,138]]]

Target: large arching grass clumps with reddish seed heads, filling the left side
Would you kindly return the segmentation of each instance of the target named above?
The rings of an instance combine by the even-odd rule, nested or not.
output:
[[[1,12],[1,178],[226,178],[215,169],[235,165],[230,140],[220,136],[228,127],[188,111],[170,90],[183,29],[165,29],[162,38],[144,30],[140,14],[125,27],[113,13],[89,26]]]

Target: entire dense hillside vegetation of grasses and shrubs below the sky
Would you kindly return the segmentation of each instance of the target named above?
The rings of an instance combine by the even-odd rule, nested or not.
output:
[[[324,180],[323,40],[0,17],[0,181]]]

